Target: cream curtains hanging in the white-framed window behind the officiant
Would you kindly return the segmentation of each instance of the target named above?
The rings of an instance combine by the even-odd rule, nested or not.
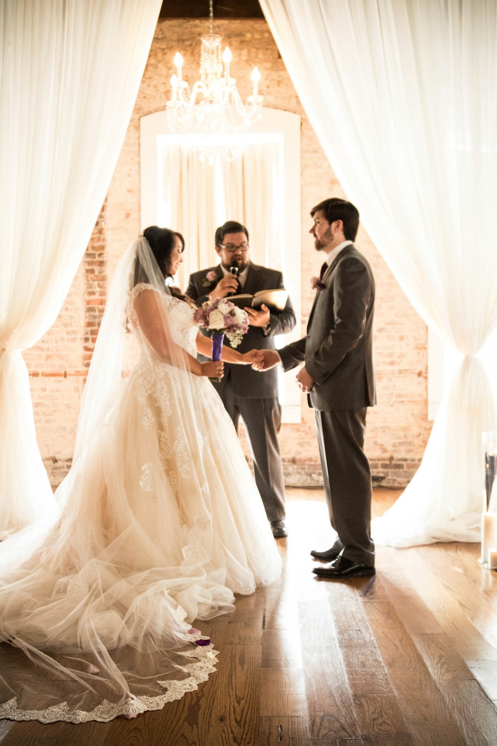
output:
[[[282,142],[247,145],[228,160],[200,160],[197,148],[167,144],[159,149],[163,225],[184,233],[187,251],[178,275],[185,289],[190,272],[217,264],[215,229],[238,220],[250,234],[250,259],[285,271],[285,205]]]

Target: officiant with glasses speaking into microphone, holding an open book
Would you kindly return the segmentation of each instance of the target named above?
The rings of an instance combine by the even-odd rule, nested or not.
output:
[[[215,251],[221,262],[217,266],[193,272],[186,295],[200,306],[211,298],[260,290],[283,288],[282,273],[250,261],[249,233],[241,223],[229,220],[215,232]],[[240,352],[275,349],[276,334],[286,334],[295,326],[295,313],[288,297],[285,307],[278,309],[261,304],[245,307],[250,327],[237,348]],[[224,344],[229,340],[224,338]],[[241,416],[252,451],[256,484],[261,494],[273,536],[288,535],[285,526],[285,482],[279,451],[278,433],[281,427],[281,406],[278,401],[276,370],[264,375],[250,366],[225,364],[221,383],[214,383],[227,413],[238,430]]]

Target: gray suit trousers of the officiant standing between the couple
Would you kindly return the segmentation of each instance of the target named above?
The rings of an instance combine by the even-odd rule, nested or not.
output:
[[[285,480],[279,452],[278,433],[281,428],[281,407],[276,397],[244,399],[227,380],[221,394],[224,407],[238,430],[241,416],[250,443],[253,470],[268,521],[285,518]]]

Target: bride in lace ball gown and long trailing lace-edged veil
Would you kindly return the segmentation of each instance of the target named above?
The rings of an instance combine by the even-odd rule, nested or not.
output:
[[[109,721],[197,688],[216,653],[196,618],[232,610],[281,562],[210,342],[165,281],[180,233],[130,245],[107,300],[57,515],[0,544],[0,717]],[[125,342],[138,363],[123,379]],[[126,352],[132,354],[132,352]],[[226,346],[224,360],[256,352]]]

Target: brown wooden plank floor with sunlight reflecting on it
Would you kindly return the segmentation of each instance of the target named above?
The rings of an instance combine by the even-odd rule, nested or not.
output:
[[[376,489],[381,515],[398,495]],[[378,548],[373,578],[311,574],[323,492],[288,489],[282,577],[196,626],[220,651],[197,692],[134,721],[0,721],[1,746],[495,746],[497,574],[475,544]]]

